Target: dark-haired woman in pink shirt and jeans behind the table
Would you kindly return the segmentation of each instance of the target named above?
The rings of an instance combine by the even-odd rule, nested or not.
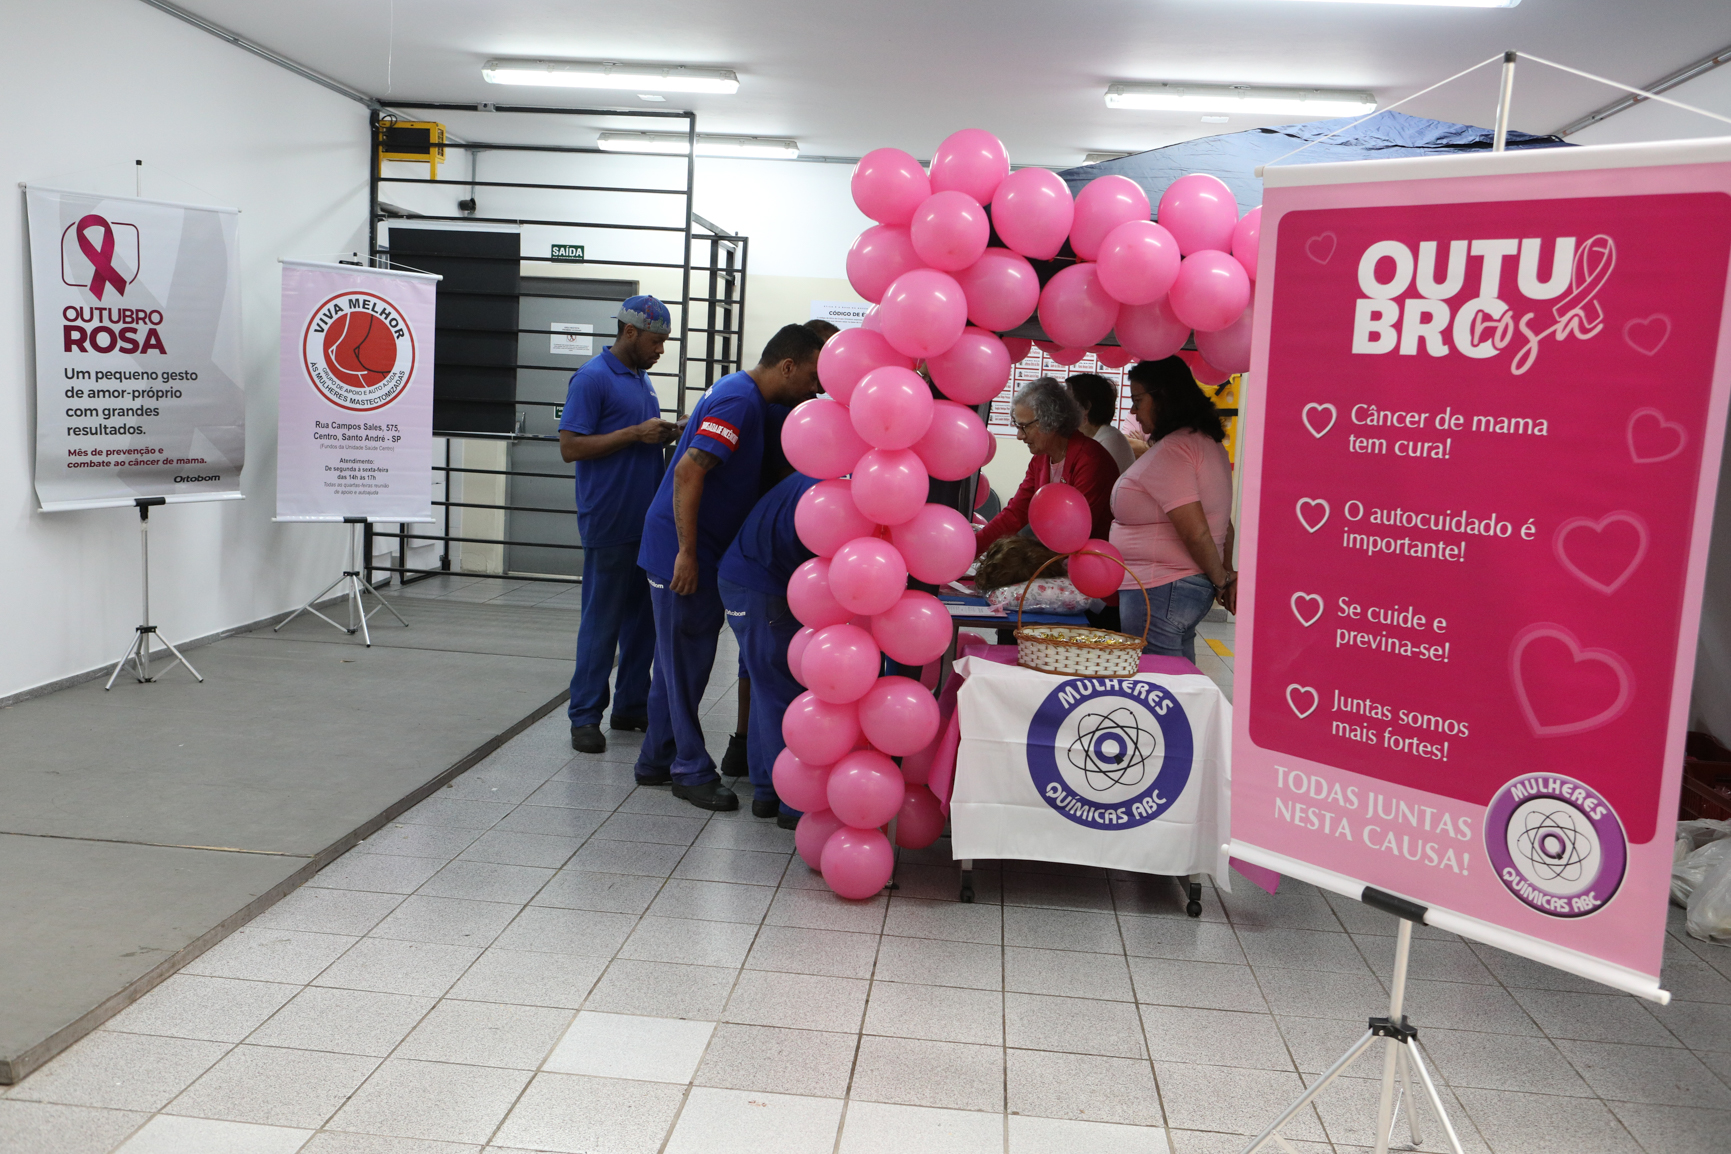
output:
[[[1123,631],[1142,631],[1144,652],[1196,659],[1196,626],[1215,599],[1238,602],[1232,559],[1232,462],[1213,401],[1179,356],[1141,362],[1129,374],[1130,407],[1149,448],[1111,490],[1111,543],[1148,587],[1120,597]]]

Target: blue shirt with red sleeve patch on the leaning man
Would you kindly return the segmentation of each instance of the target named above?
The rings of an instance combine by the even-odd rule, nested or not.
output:
[[[685,420],[685,431],[673,450],[673,462],[661,478],[661,488],[644,521],[644,543],[637,564],[663,581],[673,576],[679,555],[679,529],[673,526],[673,467],[687,450],[701,448],[722,458],[703,479],[698,505],[698,580],[715,588],[715,571],[722,554],[732,545],[746,514],[762,490],[763,422],[769,405],[748,372],[734,372],[717,381]]]

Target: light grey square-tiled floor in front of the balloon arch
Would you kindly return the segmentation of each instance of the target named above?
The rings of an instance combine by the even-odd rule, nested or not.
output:
[[[634,754],[535,725],[9,1088],[0,1151],[1236,1154],[1387,997],[1393,922],[1302,884],[1187,919],[1167,879],[1004,862],[961,905],[938,843],[848,903],[772,824],[637,789]],[[1731,1144],[1731,950],[1674,929],[1660,1009],[1414,945],[1470,1151]],[[1374,1073],[1295,1149],[1367,1145]]]

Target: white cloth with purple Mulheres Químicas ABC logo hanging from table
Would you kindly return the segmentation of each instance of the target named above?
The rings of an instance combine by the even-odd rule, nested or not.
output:
[[[957,858],[1227,884],[1232,706],[1201,675],[1092,678],[962,657]]]

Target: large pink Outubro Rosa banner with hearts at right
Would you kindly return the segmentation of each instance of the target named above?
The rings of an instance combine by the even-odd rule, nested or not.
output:
[[[1265,170],[1232,853],[1663,1002],[1731,140]]]

